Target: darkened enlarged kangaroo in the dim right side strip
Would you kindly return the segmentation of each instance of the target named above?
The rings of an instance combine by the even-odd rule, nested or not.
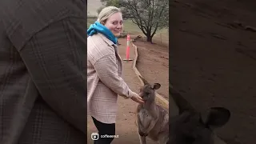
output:
[[[169,94],[178,106],[179,114],[170,118],[168,144],[214,144],[213,130],[230,120],[230,110],[210,107],[198,112],[172,86],[169,86]]]

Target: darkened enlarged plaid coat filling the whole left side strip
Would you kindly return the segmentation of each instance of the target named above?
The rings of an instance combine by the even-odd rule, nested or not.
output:
[[[86,143],[86,2],[0,1],[0,143]]]

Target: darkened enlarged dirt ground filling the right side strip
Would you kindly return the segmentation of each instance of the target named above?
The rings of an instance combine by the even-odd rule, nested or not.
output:
[[[229,144],[255,143],[256,33],[243,27],[256,26],[249,2],[170,4],[171,83],[198,110],[231,110],[230,122],[216,132]]]

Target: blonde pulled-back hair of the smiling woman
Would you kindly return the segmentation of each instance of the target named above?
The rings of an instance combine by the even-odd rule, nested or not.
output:
[[[106,22],[107,18],[110,18],[112,14],[122,13],[122,10],[115,6],[107,6],[102,9],[102,11],[98,14],[98,22]]]

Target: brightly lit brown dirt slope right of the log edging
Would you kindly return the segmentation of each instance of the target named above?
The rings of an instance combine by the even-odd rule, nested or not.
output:
[[[169,100],[169,47],[141,41],[134,44],[138,46],[138,71],[149,82],[160,83],[158,94]]]

